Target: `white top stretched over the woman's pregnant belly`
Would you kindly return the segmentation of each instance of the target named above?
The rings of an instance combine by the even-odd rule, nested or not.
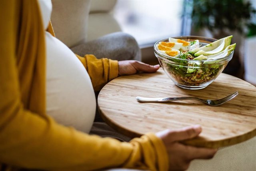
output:
[[[51,0],[38,0],[44,29],[52,12]],[[45,32],[46,112],[58,123],[89,133],[95,117],[96,99],[88,73],[75,54]]]

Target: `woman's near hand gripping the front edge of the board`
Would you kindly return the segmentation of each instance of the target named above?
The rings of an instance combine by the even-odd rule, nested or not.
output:
[[[195,125],[156,133],[156,136],[160,137],[166,146],[170,170],[186,170],[193,159],[210,159],[214,156],[216,149],[199,148],[179,143],[179,141],[196,137],[201,131],[201,126]]]

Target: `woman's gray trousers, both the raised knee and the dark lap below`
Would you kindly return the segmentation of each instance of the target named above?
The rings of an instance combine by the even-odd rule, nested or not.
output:
[[[96,58],[108,58],[118,61],[141,60],[141,52],[136,40],[131,35],[123,32],[107,34],[96,40],[75,46],[71,50],[80,56],[93,54]],[[98,94],[99,92],[95,92],[96,99],[98,99]],[[98,112],[98,107],[90,134],[100,135],[101,137],[112,137],[120,141],[130,141],[129,137],[116,132],[104,123]]]

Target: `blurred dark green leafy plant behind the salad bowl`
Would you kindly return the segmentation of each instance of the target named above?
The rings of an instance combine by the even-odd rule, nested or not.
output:
[[[256,10],[245,0],[193,0],[192,24],[196,30],[229,29],[245,34],[255,14]]]

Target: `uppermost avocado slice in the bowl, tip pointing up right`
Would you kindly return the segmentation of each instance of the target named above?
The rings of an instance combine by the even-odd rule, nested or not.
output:
[[[228,36],[226,38],[216,40],[215,42],[212,42],[206,46],[202,46],[200,48],[195,48],[193,50],[190,50],[188,53],[194,56],[200,56],[200,55],[206,56],[206,55],[217,54],[230,45],[232,37],[233,36]]]

